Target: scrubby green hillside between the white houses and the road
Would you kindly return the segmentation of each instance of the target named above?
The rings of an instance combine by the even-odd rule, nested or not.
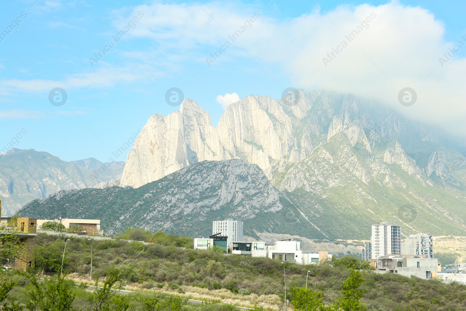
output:
[[[315,265],[285,263],[283,266],[280,261],[268,258],[177,247],[176,241],[167,242],[170,235],[160,232],[158,236],[161,237],[158,242],[151,245],[124,240],[93,240],[93,282],[96,279],[109,280],[115,276],[113,288],[116,289],[142,288],[173,295],[183,295],[189,291],[189,295],[204,293],[219,299],[218,302],[229,297],[233,301],[240,301],[244,297],[252,304],[267,309],[274,305],[282,307],[285,272],[287,299],[297,310],[302,310],[302,304],[297,300],[302,300],[300,295],[303,294],[305,297],[307,294],[313,297],[314,305],[320,308],[316,310],[326,311],[364,308],[370,311],[466,310],[464,285],[447,285],[438,280],[400,275],[380,275],[371,272],[367,262],[351,256]],[[61,268],[66,239],[64,235],[38,235],[31,246],[34,248],[35,273],[39,276],[42,271],[44,276],[57,274]],[[68,277],[89,282],[89,241],[79,237],[69,239],[63,270]],[[361,273],[360,268],[366,271]],[[360,299],[353,299],[356,297]],[[311,301],[305,303],[304,308],[312,311]]]

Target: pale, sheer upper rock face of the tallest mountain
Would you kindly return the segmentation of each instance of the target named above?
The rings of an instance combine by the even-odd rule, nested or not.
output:
[[[192,99],[167,117],[153,115],[128,154],[121,185],[141,187],[199,161],[239,158],[257,164],[278,186],[287,167],[340,132],[352,147],[369,153],[382,140],[397,141],[384,161],[400,164],[421,178],[412,159],[395,155],[413,140],[438,142],[435,131],[350,94],[299,93],[294,106],[248,95],[226,108],[217,127]]]

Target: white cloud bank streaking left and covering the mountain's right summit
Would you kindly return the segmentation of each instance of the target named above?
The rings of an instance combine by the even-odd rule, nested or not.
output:
[[[215,66],[250,62],[246,53],[242,53],[243,56],[239,53],[244,50],[262,66],[278,66],[280,70],[267,69],[267,72],[271,76],[288,75],[294,87],[324,88],[375,99],[408,117],[432,125],[430,118],[440,128],[466,136],[466,122],[463,121],[466,118],[466,59],[455,55],[443,67],[439,62],[439,57],[449,48],[458,41],[466,44],[466,40],[458,37],[454,42],[446,41],[445,23],[422,7],[404,6],[394,0],[379,6],[340,6],[326,15],[316,8],[296,18],[275,20],[268,17],[263,8],[233,2],[208,2],[202,7],[195,3],[155,2],[151,7],[134,7],[126,17],[116,18],[114,26],[119,29],[128,18],[143,12],[144,18],[131,31],[131,36],[148,38],[160,47],[149,52],[160,57],[147,56],[144,63],[150,63],[152,58],[170,68],[171,65],[189,67],[193,58],[205,62],[210,55],[202,55],[199,51],[213,52],[256,11],[261,14],[260,18],[233,43],[235,49],[228,49],[221,56],[222,62],[216,62]],[[371,14],[376,16],[361,25]],[[362,30],[349,41],[346,36],[358,27]],[[348,45],[339,54],[333,52],[343,41]],[[327,54],[332,52],[330,58]],[[142,51],[141,55],[144,54],[147,52]],[[322,61],[324,57],[330,60],[326,65]],[[243,62],[245,59],[247,62]],[[102,67],[86,72],[75,83],[80,72],[61,82],[4,80],[0,82],[0,92],[12,88],[46,91],[62,85],[98,88],[153,78],[144,73],[144,68],[131,69],[132,64],[117,68],[105,67],[102,62],[98,65]],[[154,72],[154,75],[161,75],[163,71]],[[284,85],[283,89],[288,86]],[[398,92],[404,87],[411,87],[418,94],[417,103],[411,107],[398,103]],[[221,101],[218,99],[222,106],[229,103],[226,96],[221,97]]]

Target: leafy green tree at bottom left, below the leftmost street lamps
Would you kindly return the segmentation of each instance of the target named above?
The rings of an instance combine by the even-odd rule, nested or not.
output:
[[[38,282],[34,274],[24,274],[32,284],[32,289],[26,292],[26,309],[29,311],[70,311],[75,299],[72,292],[73,282],[55,276],[51,280]]]

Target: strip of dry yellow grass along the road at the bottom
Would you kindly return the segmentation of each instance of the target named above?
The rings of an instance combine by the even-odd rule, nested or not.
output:
[[[75,283],[81,283],[86,285],[95,285],[95,282],[89,282],[89,275],[80,276],[78,273],[71,273],[66,278],[73,280]],[[178,290],[171,290],[168,288],[168,285],[165,283],[163,288],[158,288],[156,286],[147,288],[147,285],[150,285],[152,282],[144,283],[142,290],[149,291],[162,291],[171,295],[176,295],[179,297],[201,300],[207,302],[223,303],[223,304],[234,304],[241,307],[254,308],[255,305],[261,305],[264,308],[278,310],[278,305],[282,304],[280,297],[277,295],[240,295],[233,293],[226,289],[220,290],[209,290],[206,288],[200,288],[195,286],[185,286],[181,285],[180,288],[185,292],[184,294],[179,293]],[[103,280],[100,279],[97,283],[97,286],[103,286]],[[115,288],[115,286],[114,286]],[[125,285],[125,290],[137,291],[141,290],[141,284],[139,283],[130,283]]]

